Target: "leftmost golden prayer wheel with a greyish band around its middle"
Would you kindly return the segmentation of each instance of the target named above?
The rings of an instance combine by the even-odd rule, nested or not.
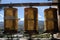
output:
[[[18,30],[18,15],[16,8],[4,9],[4,32],[17,33]]]

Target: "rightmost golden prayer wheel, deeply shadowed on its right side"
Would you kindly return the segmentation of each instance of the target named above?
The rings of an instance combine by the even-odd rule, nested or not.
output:
[[[45,9],[45,22],[44,22],[44,31],[46,32],[58,32],[58,18],[57,18],[57,9],[49,8]]]

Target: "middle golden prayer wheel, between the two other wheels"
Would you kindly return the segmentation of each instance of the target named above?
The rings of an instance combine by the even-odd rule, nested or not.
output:
[[[24,30],[28,33],[37,33],[38,10],[37,8],[25,8]]]

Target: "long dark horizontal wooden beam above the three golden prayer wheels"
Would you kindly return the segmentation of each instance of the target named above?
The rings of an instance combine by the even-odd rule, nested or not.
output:
[[[0,4],[0,6],[57,6],[59,3],[12,3],[12,4]]]

